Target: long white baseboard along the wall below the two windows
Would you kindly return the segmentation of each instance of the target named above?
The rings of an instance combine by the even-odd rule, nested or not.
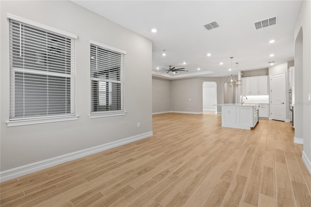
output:
[[[61,156],[57,156],[57,157],[53,157],[50,159],[46,159],[46,160],[42,160],[39,162],[35,162],[35,163],[31,163],[28,165],[24,165],[24,166],[20,166],[14,169],[10,169],[7,171],[3,171],[0,172],[0,182],[6,181],[6,180],[10,180],[25,174],[29,174],[29,173],[34,173],[36,171],[40,171],[46,168],[50,168],[53,167],[55,165],[59,165],[71,160],[75,160],[87,155],[92,155],[95,153],[99,153],[102,152],[104,150],[108,150],[114,147],[118,147],[121,146],[123,144],[128,144],[130,142],[133,141],[137,141],[139,139],[143,139],[143,138],[148,138],[153,136],[153,132],[147,132],[147,133],[143,133],[140,135],[136,135],[133,137],[129,137],[129,138],[123,138],[117,141],[113,141],[113,142],[109,142],[106,144],[102,144],[99,146],[95,146],[95,147],[91,147],[88,149],[84,149],[84,150],[80,150],[77,152],[73,152],[73,153],[69,153],[67,155],[61,155]]]

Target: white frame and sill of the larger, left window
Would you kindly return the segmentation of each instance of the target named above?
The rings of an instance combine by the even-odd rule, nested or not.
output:
[[[10,113],[9,113],[9,121],[6,121],[8,126],[19,126],[19,125],[28,125],[28,124],[37,124],[37,123],[47,123],[47,122],[56,122],[56,121],[70,121],[70,120],[77,120],[78,116],[76,115],[75,111],[75,105],[76,105],[76,100],[75,100],[75,81],[76,81],[76,68],[75,68],[75,39],[78,38],[77,35],[68,33],[66,31],[62,31],[41,23],[37,23],[35,21],[23,18],[23,17],[18,17],[12,14],[7,14],[7,20],[9,24],[9,28],[11,29],[10,26],[10,19],[18,22],[20,24],[25,24],[26,26],[34,27],[35,29],[41,30],[41,31],[46,31],[51,34],[63,36],[64,38],[69,38],[70,39],[70,74],[66,73],[58,73],[58,72],[46,72],[46,71],[40,71],[40,70],[35,70],[35,69],[25,69],[25,68],[14,68],[13,67],[13,59],[10,57]],[[13,28],[12,28],[13,29]],[[11,34],[9,35],[10,41],[11,41]],[[13,43],[12,43],[13,44]],[[9,46],[9,51],[13,50],[11,48],[11,43]],[[73,51],[73,52],[72,52]],[[14,80],[16,81],[16,74],[15,72],[23,72],[23,73],[29,73],[32,75],[46,75],[52,76],[52,77],[64,77],[64,78],[70,78],[70,114],[51,114],[51,115],[42,115],[42,116],[23,116],[23,117],[15,117],[15,84],[12,84],[11,81]],[[12,74],[13,73],[13,74]],[[12,80],[11,80],[12,79]],[[73,86],[73,88],[71,87]],[[25,98],[25,97],[24,97]],[[14,110],[12,112],[12,110]],[[12,116],[13,114],[13,116]]]

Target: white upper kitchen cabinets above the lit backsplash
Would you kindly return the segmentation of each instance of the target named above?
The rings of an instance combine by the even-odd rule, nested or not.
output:
[[[268,76],[242,78],[242,95],[268,95]]]

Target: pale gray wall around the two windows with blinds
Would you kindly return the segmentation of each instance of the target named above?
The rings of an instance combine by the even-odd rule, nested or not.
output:
[[[7,127],[9,25],[7,13],[78,35],[76,121]],[[1,171],[152,132],[152,42],[71,1],[0,1]],[[89,119],[90,39],[126,51],[125,116]],[[140,128],[137,128],[137,122]]]

